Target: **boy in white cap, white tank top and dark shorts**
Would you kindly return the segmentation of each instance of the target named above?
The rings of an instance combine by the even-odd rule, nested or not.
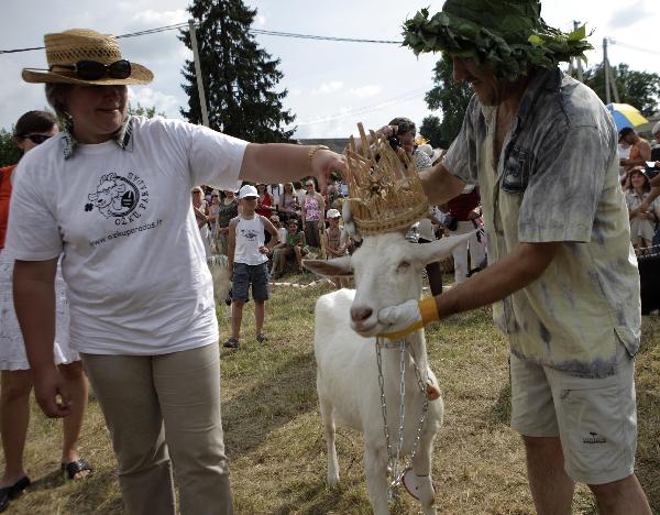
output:
[[[243,306],[248,302],[248,292],[252,286],[254,298],[254,320],[256,341],[267,341],[264,333],[264,317],[268,299],[267,254],[278,243],[277,229],[262,215],[256,212],[258,191],[254,186],[245,185],[239,191],[241,213],[229,222],[229,271],[232,274],[231,286],[231,337],[224,342],[228,349],[238,349]],[[271,242],[265,243],[265,231]]]

